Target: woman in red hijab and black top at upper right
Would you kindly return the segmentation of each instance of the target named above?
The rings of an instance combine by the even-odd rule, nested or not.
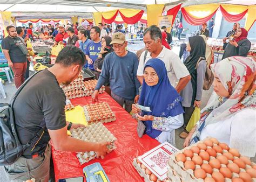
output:
[[[227,44],[222,59],[240,55],[247,57],[248,52],[251,48],[251,42],[247,39],[248,32],[244,28],[239,28],[234,33],[234,39],[230,39]]]

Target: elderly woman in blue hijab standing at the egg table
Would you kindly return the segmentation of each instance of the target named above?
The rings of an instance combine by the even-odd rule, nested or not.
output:
[[[147,61],[139,104],[149,107],[151,111],[143,111],[136,104],[132,105],[133,113],[146,126],[144,134],[156,138],[160,143],[167,141],[175,145],[174,130],[183,125],[181,100],[171,86],[164,62],[158,58]]]

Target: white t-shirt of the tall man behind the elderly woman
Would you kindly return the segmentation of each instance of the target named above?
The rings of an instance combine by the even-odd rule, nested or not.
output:
[[[167,75],[168,75],[169,81],[171,85],[175,88],[179,82],[179,79],[190,75],[190,73],[187,71],[186,66],[183,64],[183,62],[181,62],[177,54],[175,54],[173,51],[167,49],[164,46],[162,47],[163,47],[163,50],[160,52],[157,58],[164,61],[165,67],[167,69]],[[146,51],[144,51],[140,56],[137,76],[143,76],[144,65],[149,59],[152,58],[151,53],[147,52],[146,60],[144,64],[145,52]]]

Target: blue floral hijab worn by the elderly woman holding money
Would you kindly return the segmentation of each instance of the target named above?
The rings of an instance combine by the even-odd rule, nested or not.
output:
[[[181,106],[182,98],[171,86],[164,62],[158,58],[152,58],[146,62],[144,71],[148,66],[156,71],[159,80],[155,86],[148,86],[145,80],[143,81],[139,104],[150,107],[151,112],[143,111],[142,116],[169,117],[184,113]],[[161,134],[161,131],[152,128],[152,121],[145,121],[144,124],[145,132],[150,137],[156,138]]]

